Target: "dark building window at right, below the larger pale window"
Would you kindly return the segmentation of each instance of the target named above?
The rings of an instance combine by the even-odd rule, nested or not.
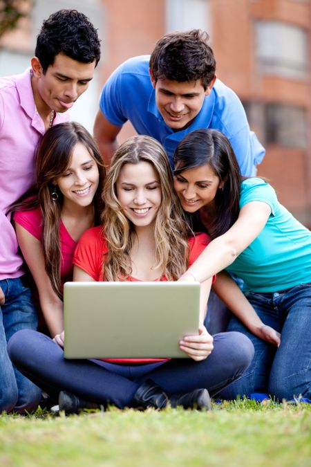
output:
[[[307,113],[302,107],[283,104],[265,106],[267,144],[307,148]]]

